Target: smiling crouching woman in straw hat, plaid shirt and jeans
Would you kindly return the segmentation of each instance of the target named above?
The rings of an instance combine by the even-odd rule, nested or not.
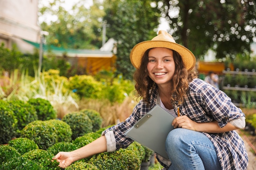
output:
[[[169,159],[157,155],[167,170],[244,170],[247,152],[234,131],[245,126],[245,115],[225,93],[196,78],[195,56],[175,43],[166,31],[137,44],[130,53],[135,66],[135,88],[141,101],[124,122],[102,132],[92,143],[53,159],[65,168],[72,162],[100,152],[127,148],[133,142],[124,135],[156,104],[176,118],[166,139]],[[177,116],[179,109],[180,116]]]

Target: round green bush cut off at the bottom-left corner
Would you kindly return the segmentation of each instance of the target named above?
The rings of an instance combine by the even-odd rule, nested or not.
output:
[[[0,170],[48,170],[39,162],[32,161],[23,157],[15,157],[7,162],[0,164]]]

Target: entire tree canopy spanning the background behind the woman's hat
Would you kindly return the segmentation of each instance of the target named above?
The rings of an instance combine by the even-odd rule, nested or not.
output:
[[[129,59],[132,47],[156,35],[160,18],[168,21],[167,31],[176,42],[200,59],[208,49],[216,51],[217,58],[249,54],[250,44],[256,42],[255,0],[94,0],[89,7],[88,2],[77,1],[71,11],[62,7],[63,0],[40,7],[39,16],[57,18],[41,23],[49,32],[47,44],[100,48],[102,25],[107,23],[107,40],[118,42],[117,74],[125,78],[131,78],[134,71]]]

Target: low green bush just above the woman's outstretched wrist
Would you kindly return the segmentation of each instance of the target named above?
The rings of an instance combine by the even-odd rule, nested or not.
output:
[[[56,155],[60,151],[70,152],[76,149],[78,149],[78,147],[75,144],[72,144],[70,142],[59,142],[54,144],[53,146],[50,146],[47,151],[51,152],[53,155]]]

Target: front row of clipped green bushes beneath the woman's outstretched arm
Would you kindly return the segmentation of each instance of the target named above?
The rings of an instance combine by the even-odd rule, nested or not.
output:
[[[45,150],[38,149],[33,140],[16,138],[11,140],[9,145],[0,146],[0,169],[61,170],[58,167],[58,162],[52,161],[54,155],[59,151],[69,152],[80,148],[83,144],[87,144],[99,136],[99,132],[90,132],[72,142],[59,142]],[[144,147],[133,142],[127,149],[104,152],[88,159],[81,159],[72,163],[65,170],[139,170],[144,156]]]

